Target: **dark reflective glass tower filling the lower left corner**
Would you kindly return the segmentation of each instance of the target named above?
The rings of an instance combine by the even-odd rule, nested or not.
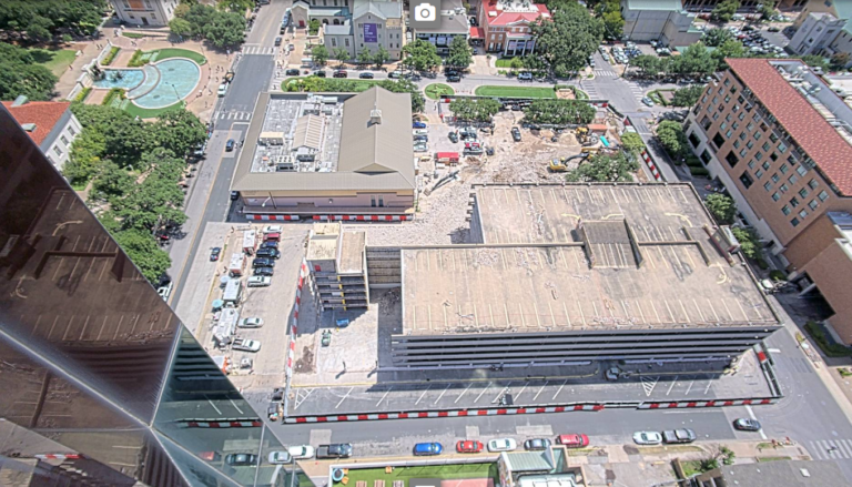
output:
[[[278,439],[6,108],[0,133],[0,484],[290,485]]]

